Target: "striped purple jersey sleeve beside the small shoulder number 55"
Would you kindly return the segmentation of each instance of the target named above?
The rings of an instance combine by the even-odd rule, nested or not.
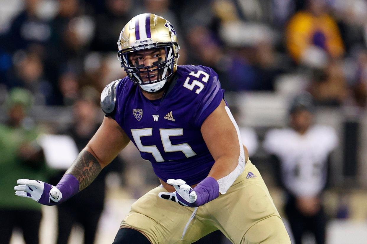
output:
[[[211,68],[199,66],[209,75],[208,82],[196,98],[198,106],[195,112],[194,123],[201,127],[204,120],[219,106],[224,98],[224,90],[221,88],[218,75]],[[204,78],[205,79],[205,76]]]

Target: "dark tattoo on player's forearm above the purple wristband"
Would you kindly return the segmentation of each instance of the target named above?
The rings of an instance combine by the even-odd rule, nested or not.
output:
[[[65,174],[72,174],[79,181],[79,191],[86,188],[101,172],[97,159],[87,150],[80,152]]]

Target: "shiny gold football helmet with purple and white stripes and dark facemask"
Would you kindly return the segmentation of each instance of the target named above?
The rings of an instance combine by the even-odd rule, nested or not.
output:
[[[161,89],[177,69],[178,51],[177,34],[168,20],[155,14],[139,14],[132,18],[121,30],[118,57],[129,78],[142,89],[154,92]],[[164,48],[166,59],[158,64],[136,67],[129,60],[129,55],[139,50]],[[155,80],[150,80],[149,72],[158,71]],[[143,81],[148,77],[148,81]],[[154,85],[153,85],[154,84]]]

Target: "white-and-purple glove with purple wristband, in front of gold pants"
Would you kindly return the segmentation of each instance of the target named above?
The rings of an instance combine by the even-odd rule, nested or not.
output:
[[[213,177],[207,177],[196,187],[191,188],[183,180],[167,180],[175,192],[160,192],[159,197],[177,202],[186,207],[199,207],[219,196],[219,185]]]

